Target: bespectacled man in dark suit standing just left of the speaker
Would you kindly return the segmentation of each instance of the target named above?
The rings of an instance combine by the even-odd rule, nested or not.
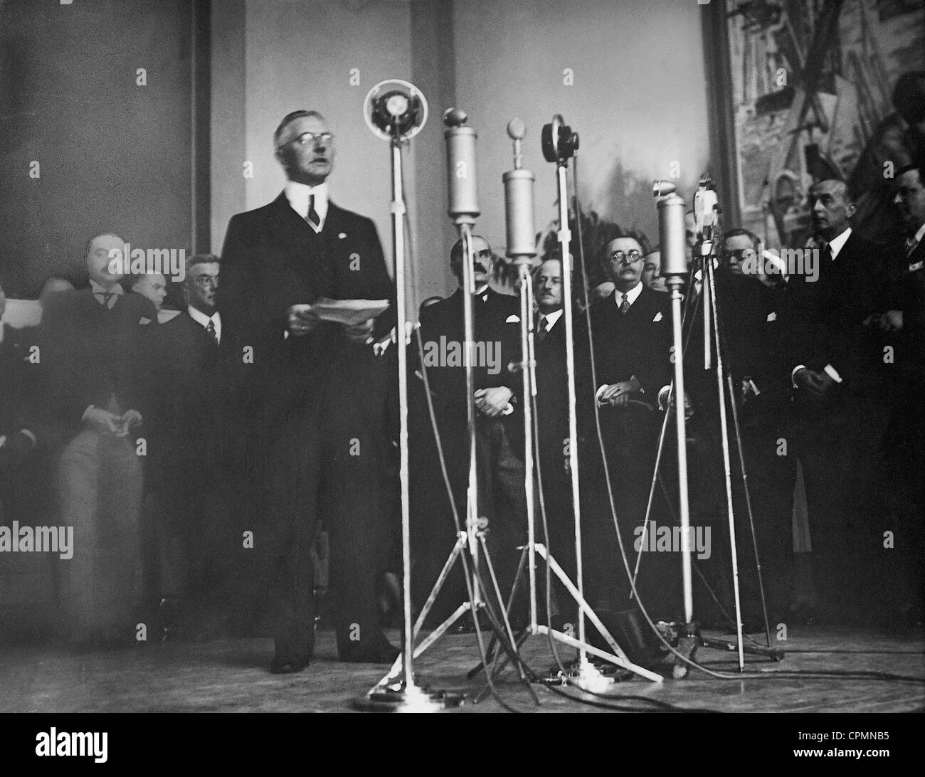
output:
[[[220,529],[228,523],[229,490],[228,468],[219,461],[228,427],[219,354],[222,320],[216,311],[219,269],[215,255],[188,257],[186,309],[147,333],[148,382],[156,387],[145,474],[149,543],[156,549],[147,556],[148,593],[158,603],[168,637],[181,616],[183,625],[211,616],[217,608],[207,606],[207,595],[224,596],[225,559],[216,552]]]

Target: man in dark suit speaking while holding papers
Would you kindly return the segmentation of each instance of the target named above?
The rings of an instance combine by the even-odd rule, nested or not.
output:
[[[312,655],[310,549],[319,518],[330,542],[339,658],[398,655],[376,605],[388,549],[394,349],[383,357],[373,346],[393,317],[346,326],[318,320],[312,308],[321,297],[394,297],[375,225],[328,198],[333,141],[314,111],[284,117],[274,142],[285,190],[233,216],[222,252],[221,347],[239,364],[239,415],[250,425],[242,434],[258,462],[248,481],[253,550],[278,590],[272,672],[298,672]]]

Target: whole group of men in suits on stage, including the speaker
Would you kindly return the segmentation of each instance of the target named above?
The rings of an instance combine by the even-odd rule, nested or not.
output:
[[[89,286],[49,294],[41,326],[4,339],[4,520],[36,524],[41,514],[74,527],[74,558],[56,565],[56,586],[62,623],[79,645],[137,638],[145,616],[132,608],[142,593],[159,605],[151,616],[152,623],[160,618],[159,631],[182,622],[186,635],[203,638],[262,600],[272,611],[271,671],[299,672],[314,650],[314,559],[323,528],[339,659],[398,655],[382,630],[378,598],[383,575],[400,567],[394,305],[352,325],[323,320],[313,307],[321,298],[394,301],[394,287],[373,222],[328,197],[334,144],[325,118],[314,111],[284,117],[274,147],[284,191],[231,219],[221,258],[189,259],[185,309],[161,309],[164,277],[113,273],[109,259],[124,241],[106,233],[87,246]],[[820,601],[797,603],[804,614],[850,617],[866,602],[867,611],[920,618],[922,166],[900,170],[893,191],[907,232],[902,245],[857,236],[845,184],[823,180],[810,192],[818,277],[767,272],[758,238],[745,229],[727,231],[714,260],[722,355],[775,619],[794,616],[798,468],[820,576]],[[522,361],[518,300],[492,287],[499,260],[486,240],[473,242],[475,341],[491,354],[474,364],[478,512],[509,592],[526,533],[523,409],[532,400],[509,368]],[[645,238],[623,234],[600,248],[592,258],[611,286],[588,290],[594,301],[587,306],[580,295],[575,306],[576,440],[569,435],[561,259],[548,255],[536,265],[531,437],[541,539],[573,574],[569,452],[576,446],[587,598],[602,611],[622,611],[632,605],[620,540],[632,566],[635,530],[648,509],[658,524],[677,523],[671,435],[653,477],[672,380],[672,321],[659,254]],[[437,343],[465,341],[464,261],[458,242],[450,268],[460,288],[422,308],[409,351],[416,607],[456,542],[453,513],[465,517],[464,369],[427,356],[447,352]],[[714,599],[728,607],[731,582],[720,400],[715,373],[703,367],[703,269],[692,261],[686,289],[683,407],[691,520],[710,526],[714,538],[698,562],[697,602],[709,612]],[[41,359],[30,360],[33,345]],[[750,540],[751,526],[735,451],[733,461],[752,617],[760,603],[757,560],[750,541],[741,541]],[[666,619],[680,601],[679,568],[677,553],[642,560],[639,592]],[[461,578],[451,576],[436,612],[455,609],[463,596]],[[182,618],[165,611],[174,598]],[[573,619],[564,588],[550,598],[550,617]]]

